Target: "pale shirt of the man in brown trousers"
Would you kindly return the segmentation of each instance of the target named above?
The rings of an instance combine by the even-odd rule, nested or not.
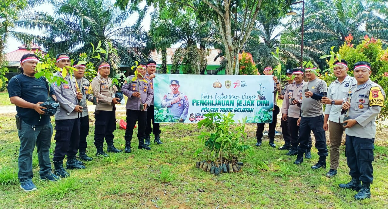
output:
[[[353,89],[357,85],[355,78],[347,76],[341,83],[338,80],[335,80],[329,85],[327,89],[327,98],[329,99],[343,99],[346,101],[348,98],[348,92],[350,89]],[[342,106],[341,105],[326,105],[325,115],[329,115],[329,120],[338,123],[343,122],[343,115],[341,115]]]

